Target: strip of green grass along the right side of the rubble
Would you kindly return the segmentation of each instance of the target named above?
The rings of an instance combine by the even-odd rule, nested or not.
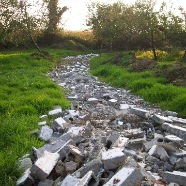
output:
[[[186,117],[186,88],[169,84],[165,77],[157,77],[153,70],[132,72],[129,67],[124,67],[131,58],[131,52],[122,52],[121,57],[118,53],[102,54],[90,61],[91,72],[112,86],[128,88],[149,103]]]

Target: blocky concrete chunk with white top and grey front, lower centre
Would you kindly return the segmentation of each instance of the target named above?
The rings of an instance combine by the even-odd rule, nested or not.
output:
[[[126,156],[120,148],[109,149],[102,153],[102,162],[105,170],[114,170],[125,163]]]

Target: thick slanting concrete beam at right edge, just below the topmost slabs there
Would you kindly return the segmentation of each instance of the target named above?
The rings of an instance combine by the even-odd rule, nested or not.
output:
[[[186,128],[174,126],[170,123],[163,123],[162,129],[166,130],[167,132],[174,134],[174,135],[182,138],[184,141],[186,141]]]

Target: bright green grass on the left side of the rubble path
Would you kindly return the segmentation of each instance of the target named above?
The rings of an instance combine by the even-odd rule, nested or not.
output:
[[[16,161],[32,146],[43,145],[37,135],[39,115],[46,114],[55,105],[69,107],[64,91],[55,85],[47,72],[61,57],[80,52],[51,49],[53,62],[34,59],[34,51],[0,53],[0,185],[15,185],[20,172]]]

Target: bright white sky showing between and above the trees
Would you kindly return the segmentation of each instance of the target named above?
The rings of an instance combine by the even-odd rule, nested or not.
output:
[[[161,3],[163,0],[157,0]],[[182,6],[186,10],[186,0],[164,0],[167,4],[173,2],[175,8]],[[86,17],[88,14],[87,4],[91,2],[114,3],[118,0],[59,0],[62,6],[67,6],[69,10],[62,16],[63,27],[66,30],[86,29]],[[120,0],[123,3],[134,3],[135,0]]]

